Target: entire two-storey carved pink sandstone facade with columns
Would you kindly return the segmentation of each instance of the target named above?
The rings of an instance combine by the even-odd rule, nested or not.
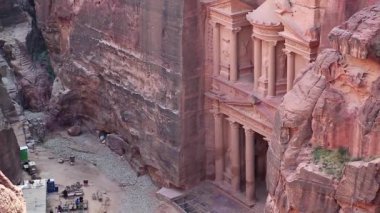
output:
[[[327,3],[266,0],[256,9],[238,0],[207,5],[212,36],[206,37],[212,39],[206,39],[206,47],[213,51],[207,52],[212,54],[212,75],[206,108],[211,108],[214,117],[214,135],[208,133],[206,140],[214,140],[215,183],[248,206],[256,199],[266,199],[264,179],[266,174],[272,175],[266,169],[273,160],[273,155],[267,158],[266,153],[268,144],[275,140],[275,113],[284,94],[295,86],[296,77],[317,58],[320,32],[327,28],[321,24]],[[351,52],[361,55],[363,51]],[[321,123],[315,125],[328,125]],[[318,141],[315,146],[329,143],[324,138],[314,141]],[[325,147],[338,148],[338,144],[342,145]],[[352,143],[344,147],[363,156],[353,147],[364,146]],[[369,149],[371,156],[380,154],[376,147]]]

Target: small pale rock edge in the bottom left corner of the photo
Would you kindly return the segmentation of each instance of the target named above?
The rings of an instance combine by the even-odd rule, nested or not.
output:
[[[15,187],[0,171],[0,212],[26,213],[22,191]]]

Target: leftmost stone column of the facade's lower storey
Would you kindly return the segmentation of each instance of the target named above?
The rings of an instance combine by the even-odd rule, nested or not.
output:
[[[215,181],[223,181],[223,115],[215,113]]]

